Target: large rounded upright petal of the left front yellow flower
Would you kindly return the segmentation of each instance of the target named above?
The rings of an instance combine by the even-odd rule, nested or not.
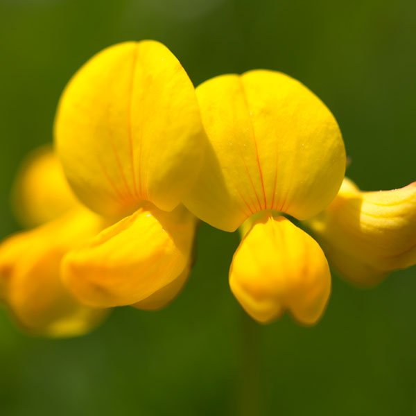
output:
[[[76,73],[60,99],[55,140],[85,205],[122,216],[143,200],[175,208],[196,180],[206,139],[180,62],[143,41],[111,46]]]

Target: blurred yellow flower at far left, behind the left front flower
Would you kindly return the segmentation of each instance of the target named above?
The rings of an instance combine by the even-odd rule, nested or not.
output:
[[[107,311],[80,304],[60,279],[64,254],[94,236],[101,218],[80,207],[50,148],[22,166],[13,191],[19,218],[34,229],[0,245],[0,300],[27,331],[76,336],[94,328]]]

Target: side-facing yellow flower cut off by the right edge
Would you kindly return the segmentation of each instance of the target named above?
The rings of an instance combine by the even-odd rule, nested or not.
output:
[[[416,182],[362,192],[345,178],[335,200],[308,225],[341,275],[372,286],[416,264]]]

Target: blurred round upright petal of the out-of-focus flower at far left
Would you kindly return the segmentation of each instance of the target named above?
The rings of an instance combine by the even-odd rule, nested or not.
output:
[[[42,146],[26,158],[15,180],[12,202],[26,227],[58,218],[78,204],[51,146]]]

